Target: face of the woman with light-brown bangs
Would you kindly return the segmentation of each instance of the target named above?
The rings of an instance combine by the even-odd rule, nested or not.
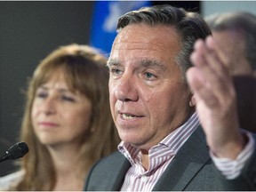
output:
[[[37,138],[54,147],[78,144],[90,129],[91,114],[91,101],[71,92],[63,72],[58,71],[36,90],[31,118]]]

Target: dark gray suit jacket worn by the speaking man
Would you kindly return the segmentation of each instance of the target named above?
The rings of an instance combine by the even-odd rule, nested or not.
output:
[[[130,162],[116,152],[94,164],[84,190],[117,191],[123,185]],[[212,163],[204,132],[198,127],[167,166],[153,190],[255,190],[256,152],[236,180],[226,180]]]

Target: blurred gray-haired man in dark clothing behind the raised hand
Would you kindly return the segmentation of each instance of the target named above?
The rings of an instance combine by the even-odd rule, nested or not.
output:
[[[250,12],[226,12],[205,20],[225,52],[226,65],[234,76],[239,124],[256,132],[256,16]]]

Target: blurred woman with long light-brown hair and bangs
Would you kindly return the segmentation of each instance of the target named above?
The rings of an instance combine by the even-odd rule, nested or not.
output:
[[[38,65],[21,125],[29,152],[8,189],[83,190],[92,164],[116,150],[106,62],[91,47],[70,44]]]

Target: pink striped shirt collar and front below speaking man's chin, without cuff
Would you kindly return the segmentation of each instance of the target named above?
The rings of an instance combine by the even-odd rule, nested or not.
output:
[[[191,116],[185,124],[171,132],[159,144],[148,151],[149,167],[146,171],[141,164],[139,148],[134,148],[123,141],[119,144],[119,151],[130,161],[132,167],[125,175],[122,191],[151,191],[157,180],[170,164],[172,158],[181,148],[188,137],[196,130],[199,120],[196,114]]]

